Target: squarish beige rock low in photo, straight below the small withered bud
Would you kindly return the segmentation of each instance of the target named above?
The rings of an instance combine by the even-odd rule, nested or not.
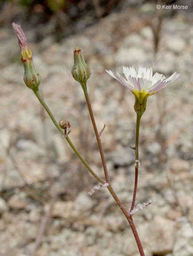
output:
[[[72,213],[73,205],[74,205],[74,202],[72,202],[72,201],[55,202],[54,209],[51,213],[51,216],[52,217],[57,217],[57,218],[63,218],[63,219],[70,218],[71,213]]]

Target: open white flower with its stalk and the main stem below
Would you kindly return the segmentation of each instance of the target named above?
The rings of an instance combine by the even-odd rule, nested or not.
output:
[[[136,140],[135,140],[135,147],[132,148],[135,151],[134,192],[133,192],[133,200],[132,200],[131,208],[129,211],[129,216],[125,214],[124,210],[122,210],[122,212],[125,214],[130,224],[130,227],[133,231],[140,255],[145,256],[143,252],[142,244],[140,242],[137,230],[134,226],[134,222],[132,219],[132,215],[134,214],[134,212],[136,212],[136,210],[134,209],[134,205],[135,205],[135,199],[136,199],[136,193],[137,193],[137,187],[138,187],[138,168],[139,168],[138,144],[139,144],[140,120],[143,113],[146,111],[147,98],[153,95],[155,92],[159,91],[161,88],[164,88],[170,83],[172,83],[174,80],[177,79],[178,76],[180,76],[180,74],[177,74],[176,72],[174,72],[173,75],[171,75],[168,79],[165,80],[165,76],[163,76],[162,74],[159,74],[158,72],[155,73],[153,76],[152,68],[146,69],[146,68],[139,67],[135,70],[134,67],[132,68],[123,67],[123,73],[126,76],[126,79],[125,79],[118,72],[114,73],[110,70],[106,70],[106,72],[110,76],[112,76],[114,79],[118,80],[126,88],[128,88],[130,92],[132,92],[135,96],[134,110],[137,114]],[[148,205],[148,204],[144,204],[144,205]],[[121,208],[121,205],[119,207]]]

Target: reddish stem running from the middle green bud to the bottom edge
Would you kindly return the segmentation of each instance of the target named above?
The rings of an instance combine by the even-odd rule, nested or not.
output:
[[[113,196],[115,202],[118,204],[119,208],[123,212],[123,214],[126,216],[126,219],[128,220],[128,222],[130,224],[131,230],[134,234],[134,238],[135,238],[135,241],[136,241],[137,246],[138,246],[140,256],[145,256],[145,254],[143,252],[143,248],[142,248],[142,243],[139,239],[137,229],[136,229],[136,227],[134,225],[134,221],[132,219],[132,215],[130,215],[130,213],[126,210],[125,206],[122,204],[122,202],[120,201],[120,199],[118,198],[118,196],[114,192],[114,189],[111,186],[109,174],[108,174],[108,171],[107,171],[107,168],[106,168],[106,161],[105,161],[105,157],[104,157],[104,153],[103,153],[103,149],[102,149],[100,136],[98,134],[98,130],[97,130],[96,123],[95,123],[95,117],[94,117],[93,112],[92,112],[91,102],[90,102],[90,98],[89,98],[88,91],[87,91],[87,85],[83,84],[83,83],[81,85],[82,85],[83,92],[84,92],[84,95],[85,95],[85,98],[86,98],[86,101],[87,101],[88,110],[89,110],[89,113],[90,113],[90,116],[91,116],[91,122],[92,122],[92,125],[93,125],[93,128],[94,128],[94,131],[95,131],[95,136],[96,136],[96,140],[97,140],[97,144],[98,144],[98,149],[99,149],[99,152],[100,152],[100,155],[101,155],[102,166],[103,166],[103,169],[104,169],[106,182],[109,184],[107,188],[108,188],[110,194]],[[140,121],[140,119],[138,120],[138,122],[139,121]],[[138,127],[139,127],[139,124],[138,124]],[[139,132],[139,128],[138,128],[138,132]]]

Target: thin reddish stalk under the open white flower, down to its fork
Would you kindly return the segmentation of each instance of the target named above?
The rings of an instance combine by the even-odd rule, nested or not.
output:
[[[135,198],[138,188],[138,168],[139,168],[139,126],[142,115],[137,113],[137,121],[136,121],[136,140],[135,140],[135,184],[134,184],[134,193],[133,200],[130,208],[130,212],[134,209],[135,206]]]

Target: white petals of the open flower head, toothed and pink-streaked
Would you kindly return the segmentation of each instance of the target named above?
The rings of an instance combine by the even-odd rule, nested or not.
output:
[[[152,68],[128,68],[123,66],[123,73],[126,76],[126,80],[118,73],[116,74],[110,70],[106,72],[122,83],[126,88],[129,88],[131,92],[141,92],[143,94],[152,95],[159,91],[161,88],[168,86],[174,80],[177,79],[180,74],[176,72],[165,79],[165,76],[156,72],[153,76]]]

